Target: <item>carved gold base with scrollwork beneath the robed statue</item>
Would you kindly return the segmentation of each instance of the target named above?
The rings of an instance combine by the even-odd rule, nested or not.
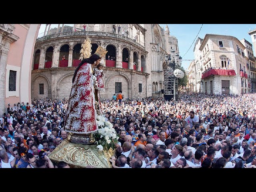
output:
[[[99,151],[97,145],[84,145],[71,143],[65,139],[61,144],[48,155],[53,162],[64,161],[71,168],[85,168],[87,165],[96,168],[111,168],[109,158],[114,154],[110,150]]]

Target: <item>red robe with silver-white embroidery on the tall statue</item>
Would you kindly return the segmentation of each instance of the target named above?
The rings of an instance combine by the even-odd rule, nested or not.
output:
[[[82,64],[76,74],[66,111],[66,132],[88,134],[98,130],[92,75],[92,65],[89,63]]]

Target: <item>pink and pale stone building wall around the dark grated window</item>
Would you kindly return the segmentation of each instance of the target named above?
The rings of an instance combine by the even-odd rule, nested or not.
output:
[[[0,43],[0,113],[7,105],[31,101],[30,78],[34,44],[39,24],[1,24]],[[16,71],[16,90],[9,91],[10,70]]]

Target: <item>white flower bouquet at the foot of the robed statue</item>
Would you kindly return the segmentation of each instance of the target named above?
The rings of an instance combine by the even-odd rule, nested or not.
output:
[[[102,151],[103,149],[114,149],[115,144],[118,142],[116,130],[113,128],[112,123],[106,120],[102,115],[97,115],[96,123],[98,124],[98,132],[94,134],[94,138],[98,141],[97,148]]]

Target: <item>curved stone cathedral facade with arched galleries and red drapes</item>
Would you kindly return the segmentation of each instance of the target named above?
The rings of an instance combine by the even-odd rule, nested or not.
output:
[[[178,51],[178,40],[168,26],[158,24],[74,24],[48,30],[36,40],[31,72],[31,98],[69,98],[72,77],[80,60],[81,44],[89,37],[92,54],[98,46],[108,50],[102,58],[105,92],[112,99],[163,96],[164,56]]]

